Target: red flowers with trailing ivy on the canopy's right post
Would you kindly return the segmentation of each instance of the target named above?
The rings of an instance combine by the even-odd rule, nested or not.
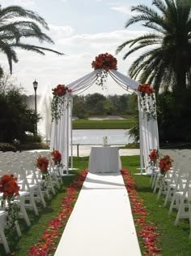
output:
[[[155,89],[148,84],[138,85],[139,103],[147,120],[156,119]]]

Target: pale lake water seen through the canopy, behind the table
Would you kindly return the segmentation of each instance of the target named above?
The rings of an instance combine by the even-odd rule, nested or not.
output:
[[[126,145],[134,142],[127,129],[73,130],[73,144],[102,145],[108,137],[108,145]]]

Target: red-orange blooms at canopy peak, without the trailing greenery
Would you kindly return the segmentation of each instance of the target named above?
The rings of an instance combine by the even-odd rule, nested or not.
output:
[[[117,70],[117,59],[112,54],[99,54],[96,56],[96,60],[92,61],[91,66],[95,70],[103,68],[105,72],[108,72],[110,69]]]

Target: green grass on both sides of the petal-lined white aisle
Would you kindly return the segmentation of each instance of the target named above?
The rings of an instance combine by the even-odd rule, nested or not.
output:
[[[131,174],[136,180],[136,189],[138,191],[138,196],[144,200],[144,206],[146,211],[150,214],[146,219],[155,223],[155,227],[158,228],[160,233],[159,248],[163,249],[163,256],[189,256],[191,255],[191,241],[189,241],[189,221],[180,219],[178,227],[174,227],[174,221],[176,218],[176,211],[173,211],[172,215],[168,216],[168,209],[163,208],[164,197],[162,196],[159,202],[156,202],[157,195],[152,193],[150,185],[149,176],[134,175],[134,173],[139,172],[137,169],[139,167],[139,157],[138,156],[124,156],[121,157],[122,167],[127,168],[131,171]],[[32,222],[32,227],[26,227],[23,220],[19,220],[20,228],[22,229],[23,236],[18,238],[16,235],[14,239],[10,239],[11,252],[15,252],[15,256],[27,256],[27,250],[35,245],[40,236],[43,235],[46,223],[56,217],[57,213],[60,211],[60,204],[62,202],[62,197],[66,195],[67,186],[79,176],[79,173],[84,168],[87,168],[88,158],[76,158],[74,157],[74,167],[78,167],[79,171],[75,171],[74,176],[69,176],[64,178],[64,184],[62,189],[57,191],[57,195],[48,202],[46,208],[40,208],[40,216],[36,217],[30,213],[29,217]],[[61,231],[63,232],[63,230]],[[83,231],[82,231],[83,232]],[[57,238],[57,241],[59,238]],[[141,244],[141,239],[140,244]],[[141,246],[142,248],[142,246]],[[0,256],[5,256],[4,249],[0,245]],[[53,254],[50,254],[53,255]],[[142,254],[143,255],[143,254]],[[99,255],[98,255],[99,256]],[[135,256],[135,255],[130,255]]]

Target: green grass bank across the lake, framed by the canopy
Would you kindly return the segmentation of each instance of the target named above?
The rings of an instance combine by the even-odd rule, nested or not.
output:
[[[129,129],[136,124],[135,118],[124,120],[88,120],[78,119],[72,122],[74,129]]]

